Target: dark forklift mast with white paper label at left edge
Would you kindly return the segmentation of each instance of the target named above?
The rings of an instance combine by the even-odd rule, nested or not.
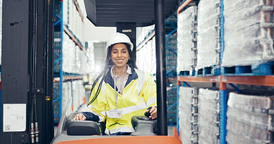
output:
[[[0,143],[53,139],[53,3],[3,0]]]

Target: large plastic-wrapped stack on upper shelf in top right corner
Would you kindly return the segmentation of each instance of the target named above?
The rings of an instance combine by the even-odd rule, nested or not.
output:
[[[224,1],[225,51],[222,66],[274,60],[273,1]]]

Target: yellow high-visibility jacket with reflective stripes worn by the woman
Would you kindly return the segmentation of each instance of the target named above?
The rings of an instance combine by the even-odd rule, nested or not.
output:
[[[97,91],[99,84],[90,94],[90,100]],[[117,88],[116,88],[117,89]],[[91,113],[99,116],[99,122],[106,119],[105,134],[116,132],[134,132],[131,119],[133,116],[143,116],[149,106],[157,102],[156,84],[149,73],[132,68],[123,95],[118,94],[117,110],[122,111],[122,117],[108,117],[110,109],[115,109],[114,81],[110,71],[106,74],[97,99],[88,105]]]

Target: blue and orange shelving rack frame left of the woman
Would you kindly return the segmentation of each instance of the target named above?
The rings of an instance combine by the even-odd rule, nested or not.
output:
[[[75,5],[75,8],[77,9],[77,12],[79,13],[79,16],[82,19],[82,22],[84,23],[84,18],[83,18],[82,12],[79,9],[79,5],[77,3],[77,0],[73,0],[73,3]],[[54,64],[54,68],[55,68],[57,66],[56,63],[58,63],[58,61],[60,61],[60,65],[57,66],[59,70],[54,71],[54,80],[53,81],[54,82],[60,82],[60,90],[59,91],[53,90],[53,93],[55,93],[55,95],[58,96],[57,98],[54,98],[53,105],[56,102],[59,102],[59,105],[60,105],[59,114],[54,115],[55,118],[58,117],[58,121],[59,121],[60,117],[62,116],[62,83],[64,81],[75,81],[75,80],[79,80],[79,79],[83,78],[82,74],[66,73],[66,72],[63,72],[63,70],[62,70],[63,31],[64,31],[64,33],[66,33],[66,35],[69,35],[69,38],[75,43],[75,45],[79,46],[79,48],[82,51],[84,51],[84,53],[86,54],[86,57],[90,58],[90,55],[88,55],[88,53],[86,51],[86,48],[84,48],[84,46],[79,41],[79,39],[75,36],[75,34],[73,34],[73,31],[71,31],[67,27],[67,25],[64,25],[64,23],[63,23],[63,1],[61,1],[61,0],[55,1],[55,5],[58,5],[58,8],[55,8],[54,31],[55,32],[60,32],[60,38],[57,38],[58,42],[60,41],[60,46],[58,46],[60,53],[55,53],[54,52],[54,55],[56,55],[58,57],[58,59],[55,59],[53,64]],[[58,121],[54,121],[54,123],[58,124]]]

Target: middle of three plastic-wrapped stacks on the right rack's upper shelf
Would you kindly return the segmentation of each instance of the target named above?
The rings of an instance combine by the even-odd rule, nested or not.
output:
[[[220,10],[220,0],[199,2],[196,70],[219,64]]]

